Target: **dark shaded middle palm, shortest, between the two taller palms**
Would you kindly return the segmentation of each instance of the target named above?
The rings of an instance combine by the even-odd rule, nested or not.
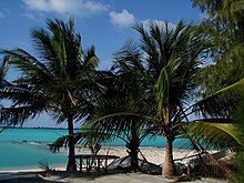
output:
[[[114,64],[106,77],[103,73],[102,84],[106,87],[106,91],[96,99],[92,120],[84,123],[82,129],[90,130],[94,141],[108,142],[118,138],[124,141],[131,159],[131,169],[139,171],[139,146],[148,135],[146,128],[151,124],[144,119],[133,116],[134,113],[144,112],[142,109],[144,90],[141,84],[143,82],[139,82],[142,78],[139,73],[134,75],[135,72],[132,71]],[[126,115],[124,111],[128,111]]]

